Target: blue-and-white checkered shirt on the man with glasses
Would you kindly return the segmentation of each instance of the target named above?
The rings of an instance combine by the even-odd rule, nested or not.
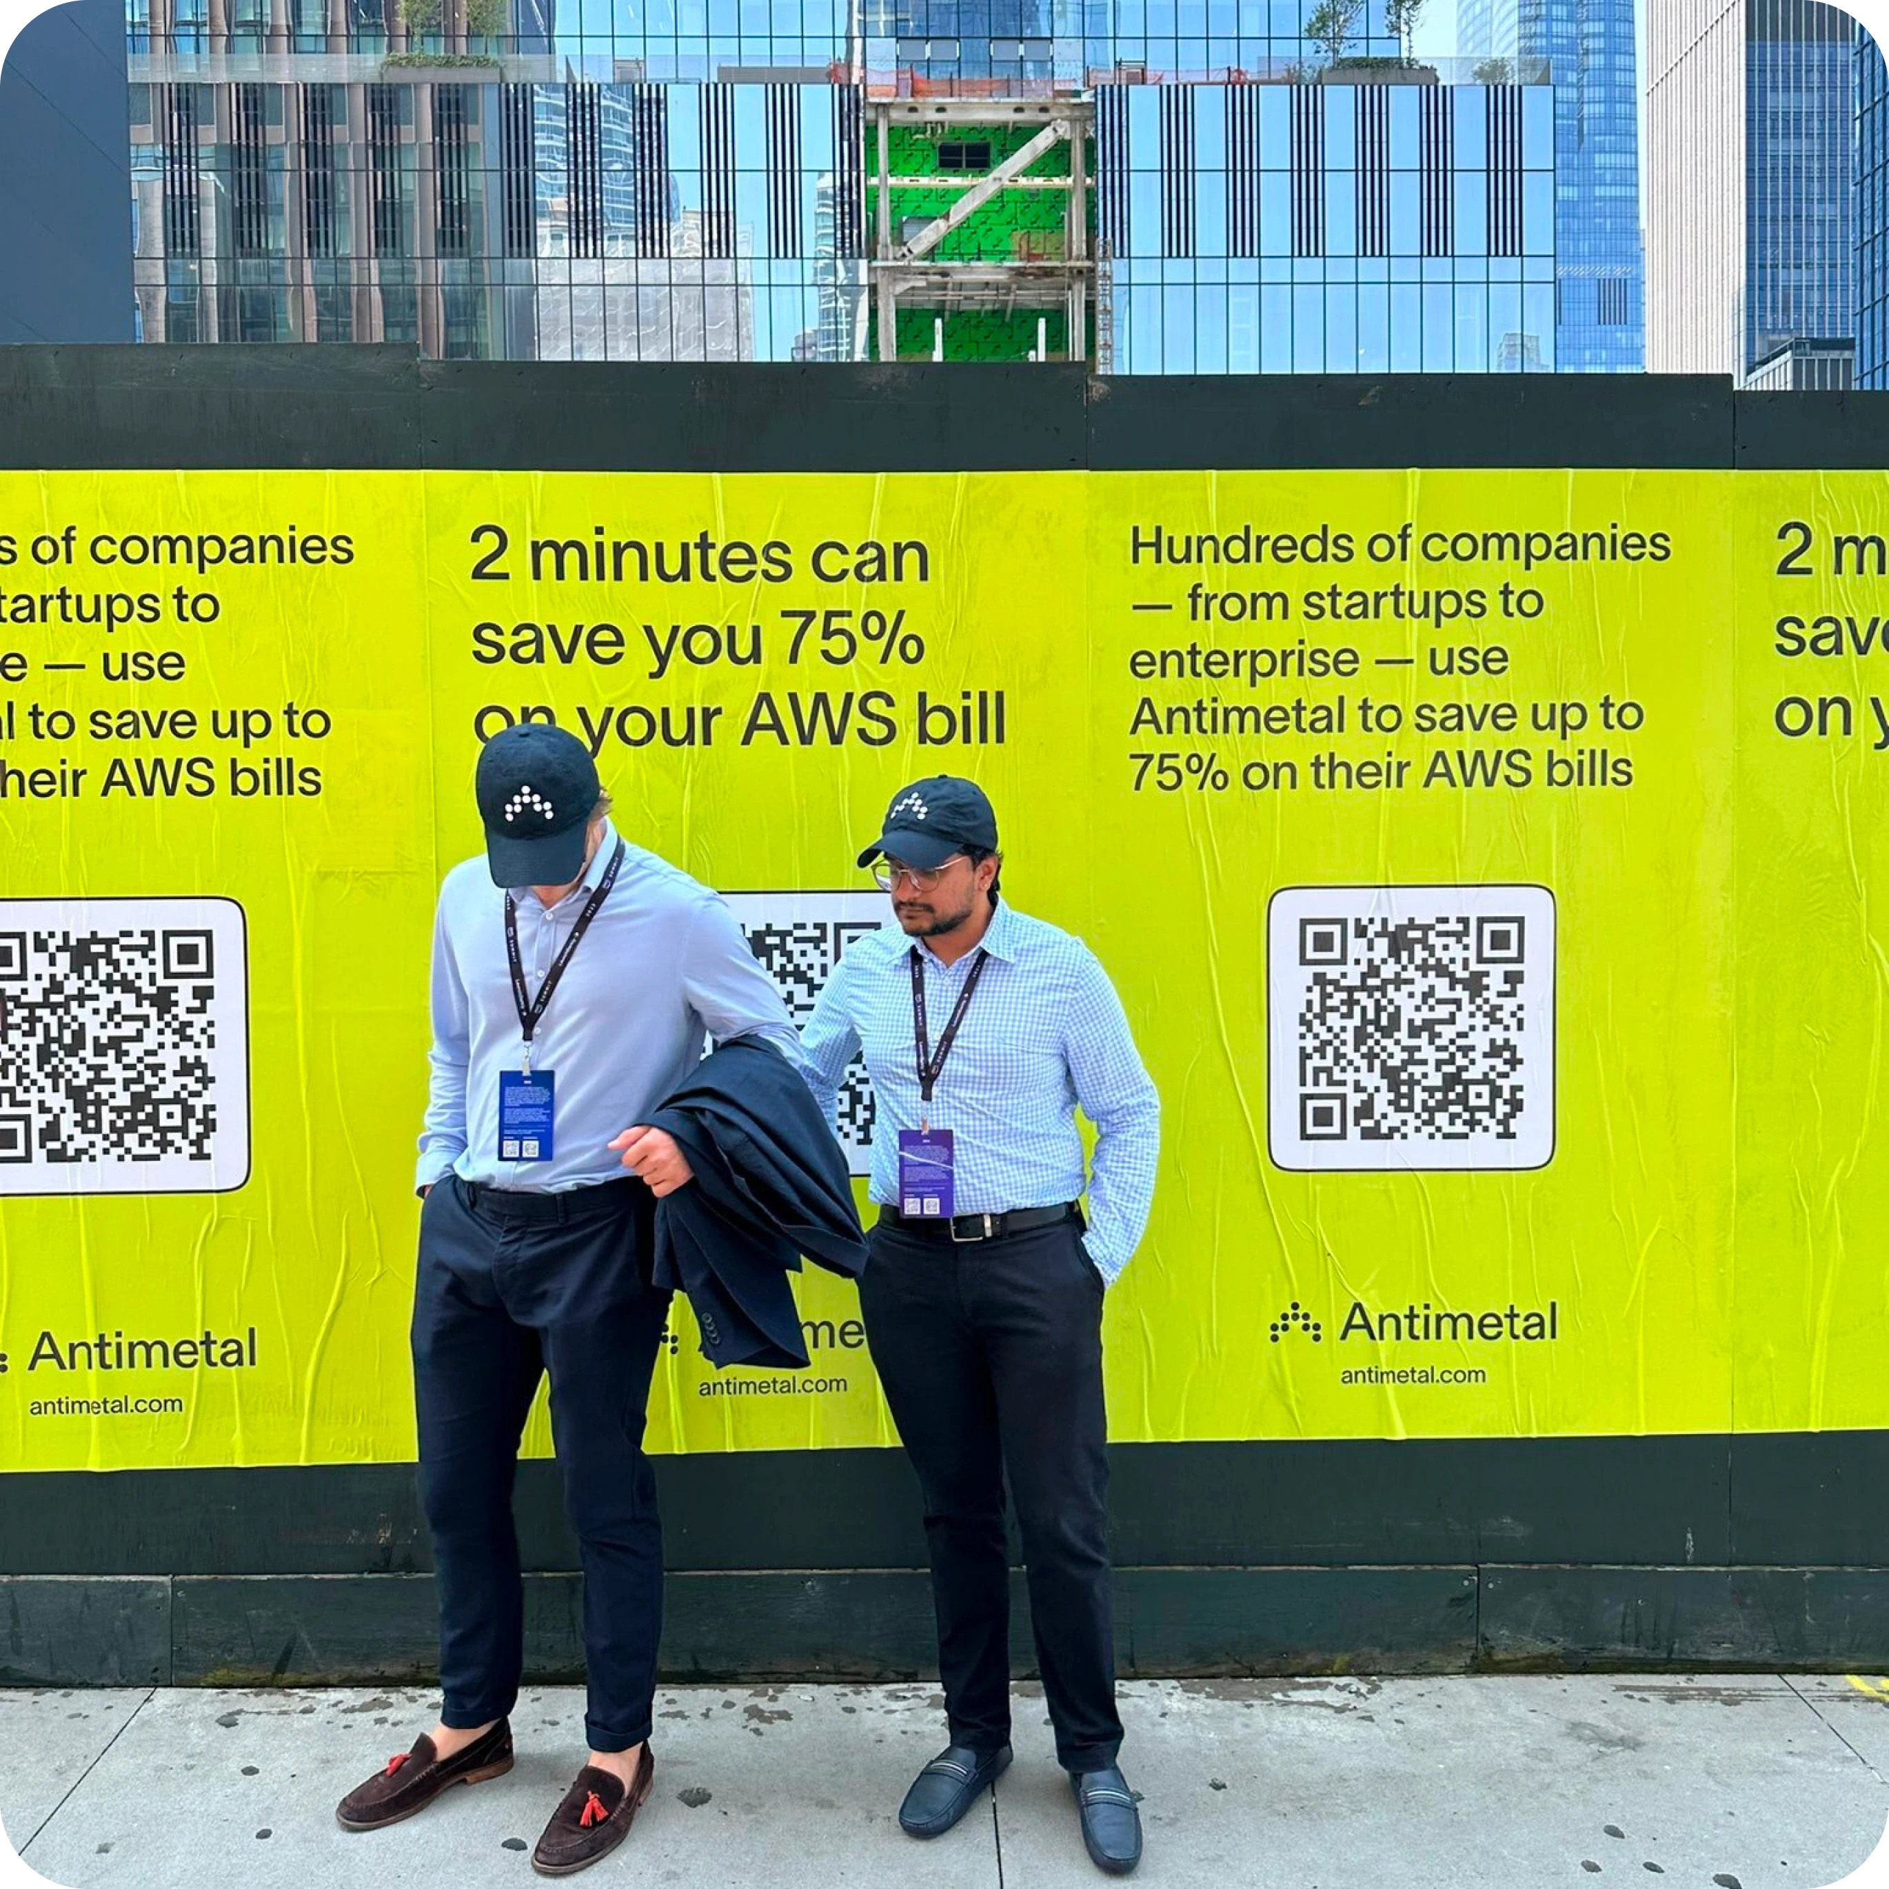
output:
[[[935,1056],[977,952],[948,965],[927,944],[918,950]],[[863,1050],[876,1099],[875,1201],[897,1205],[899,1130],[927,1120],[954,1135],[958,1213],[1058,1207],[1086,1186],[1088,1256],[1113,1281],[1154,1201],[1162,1113],[1154,1082],[1107,971],[1081,939],[999,903],[984,950],[990,962],[926,1109],[912,1039],[912,941],[886,926],[850,944],[801,1035],[814,1099],[831,1122],[846,1067]],[[1079,1105],[1096,1124],[1088,1177]]]

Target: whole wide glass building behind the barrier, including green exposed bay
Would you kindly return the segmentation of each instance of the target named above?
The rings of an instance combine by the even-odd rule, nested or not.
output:
[[[1415,66],[1383,0],[128,6],[149,340],[1558,361],[1545,66]]]

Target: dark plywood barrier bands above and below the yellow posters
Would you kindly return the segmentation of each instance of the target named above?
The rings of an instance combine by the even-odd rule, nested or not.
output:
[[[1889,467],[1889,397],[1651,376],[1101,382],[0,349],[6,468],[1623,465]],[[1880,1432],[1122,1445],[1113,1473],[1124,1674],[1889,1664]],[[671,1456],[657,1475],[671,1677],[927,1666],[899,1453]],[[570,1676],[578,1577],[555,1466],[523,1466],[518,1513],[531,1668]],[[0,1679],[421,1679],[427,1570],[410,1466],[8,1473]],[[1020,1583],[1018,1602],[1026,1670]]]

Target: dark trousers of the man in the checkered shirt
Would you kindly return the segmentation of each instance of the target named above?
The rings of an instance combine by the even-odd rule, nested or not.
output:
[[[1011,1738],[1009,1473],[1037,1666],[1071,1772],[1115,1762],[1101,1275],[1082,1222],[954,1245],[880,1222],[867,1345],[918,1472],[952,1744]]]

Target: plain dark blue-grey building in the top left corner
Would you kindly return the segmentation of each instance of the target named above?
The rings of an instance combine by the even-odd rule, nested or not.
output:
[[[0,59],[0,344],[136,340],[121,0],[34,13]]]

